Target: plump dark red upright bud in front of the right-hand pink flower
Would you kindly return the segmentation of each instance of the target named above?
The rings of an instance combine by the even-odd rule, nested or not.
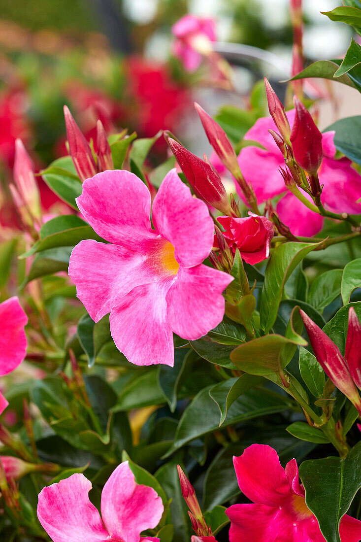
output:
[[[315,173],[323,159],[322,134],[314,124],[310,112],[295,96],[296,109],[291,131],[291,143],[296,162],[308,173]]]

